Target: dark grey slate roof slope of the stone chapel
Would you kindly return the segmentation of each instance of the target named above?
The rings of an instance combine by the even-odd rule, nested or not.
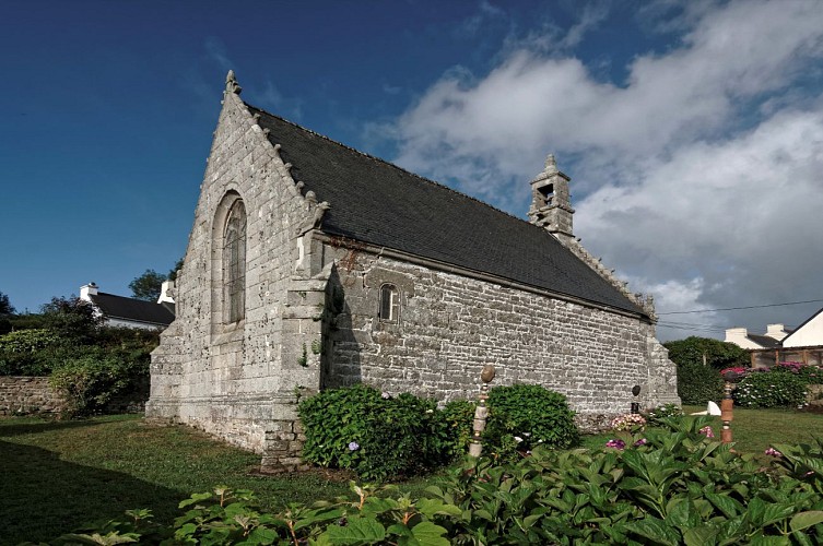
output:
[[[328,201],[321,229],[646,317],[545,229],[473,198],[260,114],[295,181]]]

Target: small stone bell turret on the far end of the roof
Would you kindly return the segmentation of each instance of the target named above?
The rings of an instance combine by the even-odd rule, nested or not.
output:
[[[568,191],[569,178],[557,170],[554,155],[545,158],[545,167],[531,183],[531,207],[529,222],[543,227],[562,242],[574,238],[572,232],[572,194]]]

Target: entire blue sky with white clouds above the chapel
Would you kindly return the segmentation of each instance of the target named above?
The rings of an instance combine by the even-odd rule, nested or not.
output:
[[[660,312],[823,299],[813,1],[33,0],[4,3],[0,48],[19,311],[90,281],[129,295],[184,254],[230,68],[247,102],[517,216],[555,153],[576,234]]]

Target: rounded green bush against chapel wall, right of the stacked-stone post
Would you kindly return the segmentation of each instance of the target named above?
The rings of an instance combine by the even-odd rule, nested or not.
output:
[[[495,387],[489,391],[487,449],[503,460],[544,444],[567,448],[579,441],[575,414],[566,397],[537,384]]]

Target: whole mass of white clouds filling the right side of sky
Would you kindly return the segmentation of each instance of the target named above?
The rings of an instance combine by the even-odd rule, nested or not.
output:
[[[625,82],[528,41],[483,78],[451,71],[393,126],[397,161],[520,213],[555,152],[575,161],[576,232],[661,307],[796,300],[823,269],[823,106],[792,88],[823,57],[823,10],[703,2],[678,23]]]

